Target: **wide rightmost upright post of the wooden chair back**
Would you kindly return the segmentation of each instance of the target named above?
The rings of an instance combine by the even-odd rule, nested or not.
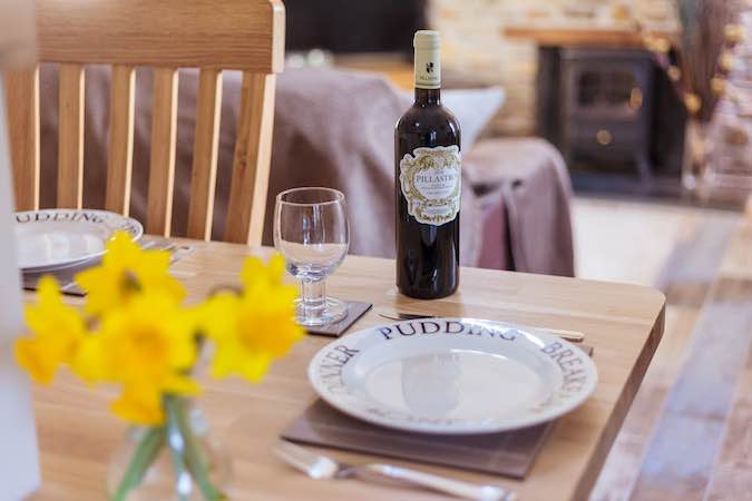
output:
[[[264,206],[268,189],[265,167],[272,145],[262,140],[272,135],[275,75],[243,73],[233,179],[227,206],[224,239],[261,245]]]

